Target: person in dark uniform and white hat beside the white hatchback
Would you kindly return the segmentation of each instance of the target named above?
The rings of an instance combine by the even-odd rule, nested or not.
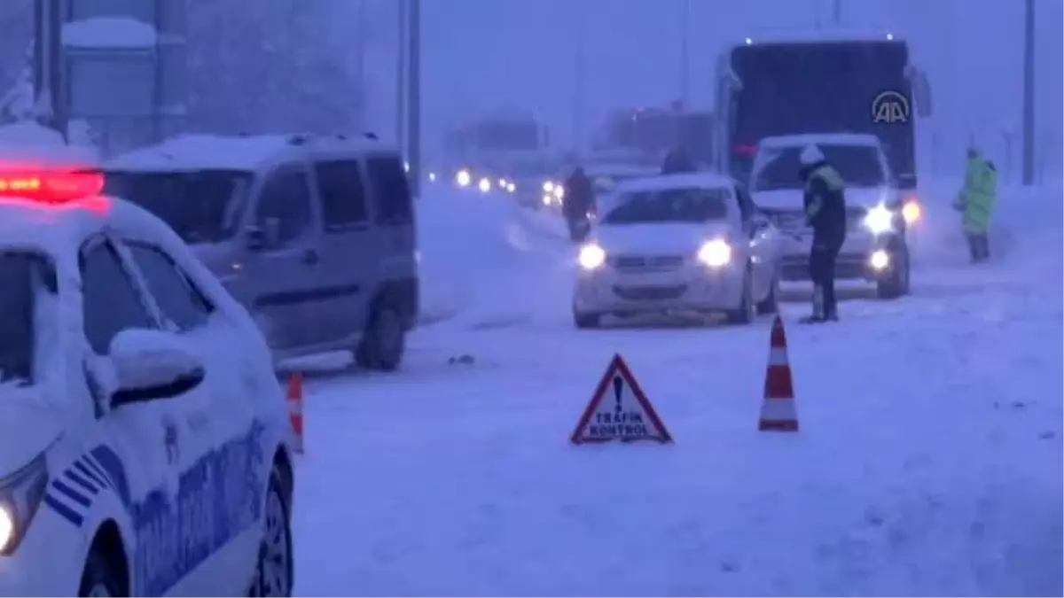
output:
[[[813,227],[809,273],[813,279],[813,313],[807,323],[838,320],[835,299],[835,259],[846,240],[846,197],[842,177],[815,145],[800,156],[804,182],[805,220]]]

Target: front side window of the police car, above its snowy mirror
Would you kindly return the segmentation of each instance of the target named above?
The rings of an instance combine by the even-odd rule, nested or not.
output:
[[[156,328],[111,244],[82,253],[81,284],[85,338],[98,355],[109,354],[111,342],[123,330]]]

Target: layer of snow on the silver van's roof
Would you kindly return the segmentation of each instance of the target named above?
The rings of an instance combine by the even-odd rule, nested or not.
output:
[[[313,151],[369,151],[392,149],[365,137],[305,137],[294,135],[180,135],[159,145],[130,151],[109,161],[115,170],[255,170],[289,153]]]

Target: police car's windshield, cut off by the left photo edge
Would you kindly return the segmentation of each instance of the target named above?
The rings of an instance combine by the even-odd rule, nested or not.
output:
[[[40,310],[55,293],[55,273],[48,258],[26,251],[0,252],[0,384],[29,386],[34,382],[36,333],[47,314]],[[46,348],[46,347],[43,347]]]

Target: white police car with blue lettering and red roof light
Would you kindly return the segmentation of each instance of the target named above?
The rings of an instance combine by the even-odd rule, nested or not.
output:
[[[0,166],[0,596],[288,597],[262,334],[101,176]]]

